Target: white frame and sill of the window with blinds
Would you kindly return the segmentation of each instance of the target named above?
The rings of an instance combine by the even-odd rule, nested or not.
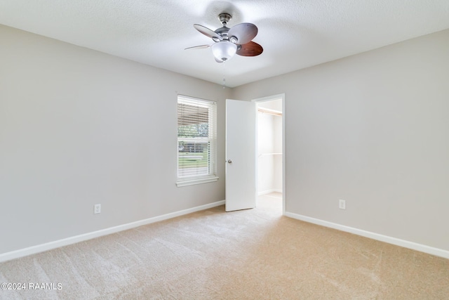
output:
[[[207,107],[208,109],[208,137],[195,137],[195,138],[185,138],[177,136],[177,187],[186,186],[186,185],[194,185],[200,183],[208,183],[214,182],[218,180],[217,177],[217,103],[211,100],[203,100],[199,98],[193,98],[189,96],[178,95],[177,96],[177,129],[180,126],[180,115],[181,110],[179,110],[180,104],[188,104],[188,105],[198,105],[198,107]],[[194,117],[193,117],[194,118]],[[179,131],[178,131],[179,133]],[[207,165],[207,174],[188,174],[181,175],[180,168],[180,142],[184,143],[208,143],[208,165]],[[181,153],[184,155],[185,153]],[[194,169],[194,167],[192,167]],[[196,171],[199,171],[196,169]]]

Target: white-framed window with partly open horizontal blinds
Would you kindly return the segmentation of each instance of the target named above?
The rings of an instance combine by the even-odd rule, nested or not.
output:
[[[217,181],[216,103],[177,97],[177,186]]]

